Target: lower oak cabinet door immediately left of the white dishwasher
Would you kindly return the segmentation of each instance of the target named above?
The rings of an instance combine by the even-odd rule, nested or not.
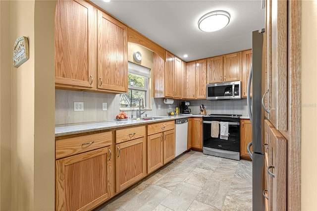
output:
[[[175,158],[175,130],[163,132],[163,163]]]

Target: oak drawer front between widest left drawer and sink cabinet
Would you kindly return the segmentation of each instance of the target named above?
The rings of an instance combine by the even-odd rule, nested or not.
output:
[[[121,143],[145,136],[145,126],[116,130],[115,143]]]

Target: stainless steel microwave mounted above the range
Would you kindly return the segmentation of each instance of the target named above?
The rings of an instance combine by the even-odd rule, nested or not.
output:
[[[241,99],[241,81],[207,84],[207,100]]]

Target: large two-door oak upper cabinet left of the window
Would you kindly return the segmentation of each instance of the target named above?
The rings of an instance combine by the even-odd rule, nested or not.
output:
[[[128,91],[127,27],[86,1],[58,0],[55,87]]]

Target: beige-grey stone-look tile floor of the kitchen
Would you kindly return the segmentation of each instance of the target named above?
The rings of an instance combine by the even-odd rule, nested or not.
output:
[[[251,211],[252,162],[190,151],[96,211]]]

